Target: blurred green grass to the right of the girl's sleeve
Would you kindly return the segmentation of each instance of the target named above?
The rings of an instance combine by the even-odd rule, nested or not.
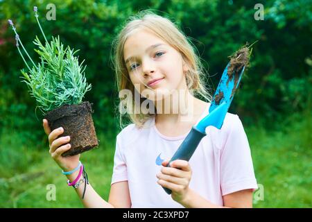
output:
[[[263,200],[254,207],[312,207],[311,114],[295,115],[268,132],[248,128],[254,171]]]

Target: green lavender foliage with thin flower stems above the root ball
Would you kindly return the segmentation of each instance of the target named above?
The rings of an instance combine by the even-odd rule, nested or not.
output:
[[[28,52],[24,48],[12,20],[8,20],[12,30],[15,32],[16,46],[24,60],[28,71],[21,69],[22,78],[28,86],[29,92],[37,101],[37,108],[40,108],[43,114],[58,108],[64,104],[80,104],[83,101],[85,93],[91,90],[92,85],[87,84],[85,78],[85,68],[83,62],[78,62],[78,56],[74,56],[78,51],[73,51],[69,46],[64,48],[60,37],[52,37],[51,42],[46,40],[46,35],[40,25],[37,7],[33,8],[37,24],[44,37],[44,44],[39,38],[35,37],[33,43],[38,47],[35,51],[39,54],[41,62],[35,65]],[[28,65],[26,58],[21,53],[20,46],[31,62]]]

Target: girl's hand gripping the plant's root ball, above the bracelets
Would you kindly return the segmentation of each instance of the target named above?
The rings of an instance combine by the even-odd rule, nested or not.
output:
[[[69,137],[59,137],[64,132],[62,127],[56,128],[51,132],[48,121],[43,119],[43,127],[46,135],[49,136],[49,153],[53,160],[60,166],[63,171],[71,171],[75,169],[79,164],[80,154],[62,157],[62,153],[68,151],[71,148],[69,144]]]

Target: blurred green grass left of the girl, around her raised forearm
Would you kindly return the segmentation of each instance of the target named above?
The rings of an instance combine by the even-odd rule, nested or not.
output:
[[[73,188],[67,186],[67,178],[62,176],[47,146],[26,148],[10,137],[12,134],[1,137],[0,207],[83,207]],[[101,135],[98,139],[101,146],[84,153],[80,159],[90,184],[107,200],[114,142],[106,142],[108,139]],[[55,200],[46,198],[49,185],[55,185]]]

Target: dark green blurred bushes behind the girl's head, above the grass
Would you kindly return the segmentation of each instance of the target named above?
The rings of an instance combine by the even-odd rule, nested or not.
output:
[[[45,19],[49,3],[56,7],[56,19],[51,21]],[[211,93],[227,56],[246,42],[258,41],[229,112],[238,113],[247,125],[279,127],[290,112],[311,108],[311,7],[304,0],[265,1],[264,20],[257,21],[256,3],[259,1],[0,1],[0,128],[19,130],[21,137],[34,141],[43,135],[35,99],[20,82],[24,64],[7,24],[7,19],[13,20],[26,49],[37,58],[31,50],[35,35],[40,36],[33,6],[38,7],[46,33],[60,35],[65,45],[80,49],[80,60],[86,60],[87,82],[93,86],[85,100],[94,103],[96,128],[112,137],[119,130],[115,115],[118,94],[110,62],[112,40],[125,19],[147,8],[173,19],[190,37],[211,76],[207,81]]]

